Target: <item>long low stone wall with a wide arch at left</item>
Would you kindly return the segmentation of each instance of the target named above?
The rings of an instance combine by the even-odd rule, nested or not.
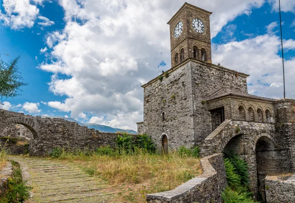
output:
[[[44,156],[53,148],[95,149],[101,145],[115,146],[117,133],[103,133],[58,118],[40,118],[23,113],[0,109],[0,135],[6,135],[9,128],[20,124],[32,134],[29,139],[29,154]],[[4,144],[3,141],[1,143]]]

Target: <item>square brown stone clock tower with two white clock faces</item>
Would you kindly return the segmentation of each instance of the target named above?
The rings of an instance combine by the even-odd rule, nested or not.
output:
[[[211,14],[185,2],[167,23],[170,25],[172,67],[187,58],[211,63]]]

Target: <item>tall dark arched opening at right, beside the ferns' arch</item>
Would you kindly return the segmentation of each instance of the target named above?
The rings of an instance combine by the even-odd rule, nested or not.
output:
[[[279,167],[276,160],[275,145],[269,137],[262,136],[256,143],[255,152],[258,187],[257,196],[259,201],[266,203],[265,178]]]

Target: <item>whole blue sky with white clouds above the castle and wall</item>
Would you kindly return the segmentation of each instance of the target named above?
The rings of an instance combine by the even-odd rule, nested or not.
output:
[[[287,97],[295,98],[295,2],[281,1]],[[140,86],[171,68],[166,23],[183,3],[1,0],[1,57],[20,55],[29,83],[1,108],[136,129],[143,120]],[[276,0],[189,3],[213,12],[212,62],[250,74],[250,94],[282,98]]]

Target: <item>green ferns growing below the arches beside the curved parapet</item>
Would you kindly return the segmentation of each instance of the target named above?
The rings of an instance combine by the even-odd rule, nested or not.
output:
[[[226,178],[229,186],[222,192],[225,203],[259,203],[249,192],[248,166],[238,155],[230,154],[224,158]]]

